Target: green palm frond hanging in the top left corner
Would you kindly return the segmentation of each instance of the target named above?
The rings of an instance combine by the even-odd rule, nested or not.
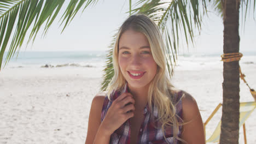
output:
[[[19,52],[29,28],[32,31],[29,34],[27,43],[31,40],[34,41],[39,29],[44,24],[43,33],[46,34],[56,16],[60,13],[64,2],[65,0],[0,1],[0,70],[7,45],[10,44],[10,47],[5,59],[5,65],[14,56],[15,52]],[[61,17],[61,25],[65,22],[63,29],[65,29],[75,14],[77,14],[78,10],[83,7],[85,2],[84,9],[96,3],[97,0],[72,0],[69,2],[65,13]],[[15,30],[13,31],[14,27]],[[10,40],[11,33],[13,34],[13,38]]]

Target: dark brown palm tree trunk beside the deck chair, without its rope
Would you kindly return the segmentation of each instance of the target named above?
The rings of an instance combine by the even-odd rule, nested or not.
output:
[[[223,52],[239,52],[240,37],[239,8],[240,0],[223,1],[224,44]],[[223,109],[220,144],[238,143],[239,138],[239,62],[223,64]]]

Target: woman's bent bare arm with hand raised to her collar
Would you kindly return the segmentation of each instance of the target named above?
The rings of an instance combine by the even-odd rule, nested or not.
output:
[[[133,117],[135,100],[130,93],[123,93],[113,101],[101,122],[104,98],[105,96],[96,95],[92,100],[85,144],[109,143],[110,135],[127,119]]]

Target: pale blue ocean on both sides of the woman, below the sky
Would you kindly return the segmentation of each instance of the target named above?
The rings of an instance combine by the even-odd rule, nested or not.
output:
[[[107,51],[21,51],[5,68],[103,67]],[[179,70],[222,69],[220,53],[183,53],[178,55]],[[3,60],[7,56],[4,53]],[[244,52],[240,64],[256,65],[256,52]],[[4,61],[3,64],[4,65]]]

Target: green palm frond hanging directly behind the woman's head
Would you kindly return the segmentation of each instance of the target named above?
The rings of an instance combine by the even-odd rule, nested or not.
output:
[[[177,52],[181,36],[184,36],[186,44],[189,41],[194,44],[194,33],[200,31],[203,14],[207,13],[206,5],[210,0],[184,0],[184,1],[160,1],[140,0],[137,5],[141,7],[132,10],[132,14],[143,13],[148,15],[160,28],[165,41],[167,53],[167,69],[172,76],[174,66],[177,62]],[[200,8],[202,8],[200,10]],[[113,42],[113,41],[112,41]],[[113,43],[110,44],[107,55],[107,64],[104,69],[104,80],[101,89],[106,90],[108,83],[114,75],[112,65]]]

